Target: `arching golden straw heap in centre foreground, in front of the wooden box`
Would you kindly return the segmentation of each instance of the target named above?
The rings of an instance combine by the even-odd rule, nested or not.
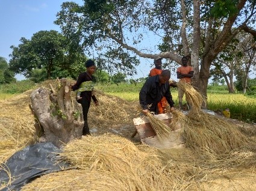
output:
[[[167,190],[170,187],[161,160],[119,136],[86,136],[67,144],[60,155],[76,168],[113,172],[125,177],[123,184],[127,181],[133,184],[136,187],[133,190]]]

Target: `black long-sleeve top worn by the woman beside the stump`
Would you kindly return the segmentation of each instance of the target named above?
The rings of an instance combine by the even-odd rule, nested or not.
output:
[[[80,84],[83,82],[87,82],[87,81],[95,81],[95,78],[92,76],[90,77],[89,74],[87,74],[87,72],[83,72],[78,76],[78,79],[76,80],[75,85],[72,86],[72,90],[75,91],[76,89],[80,88]],[[93,99],[94,102],[97,102],[97,99],[95,97],[95,95],[92,96],[92,91],[82,91],[81,92],[81,97],[86,97],[87,100],[91,100],[91,98]]]

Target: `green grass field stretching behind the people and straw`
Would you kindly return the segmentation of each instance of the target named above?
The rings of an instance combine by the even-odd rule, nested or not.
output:
[[[139,102],[139,91],[142,88],[142,83],[127,84],[98,84],[96,89],[103,91],[106,94],[120,97],[128,102]],[[33,88],[34,83],[30,81],[17,82],[9,85],[0,85],[0,100],[7,100],[10,97],[20,94],[27,89]],[[178,91],[176,88],[171,89],[175,106],[178,106]],[[207,92],[208,109],[212,111],[222,111],[229,108],[231,118],[256,123],[256,99],[255,97],[245,96],[243,94],[229,94],[225,88],[209,89]],[[185,100],[185,98],[184,98]],[[185,103],[185,102],[184,102]]]

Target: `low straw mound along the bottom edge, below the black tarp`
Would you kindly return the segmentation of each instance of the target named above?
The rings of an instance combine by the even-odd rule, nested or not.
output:
[[[125,178],[110,171],[72,169],[44,175],[22,187],[22,190],[136,190],[133,183],[123,181]]]

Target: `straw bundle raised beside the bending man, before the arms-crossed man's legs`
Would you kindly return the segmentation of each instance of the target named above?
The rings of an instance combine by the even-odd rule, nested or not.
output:
[[[186,94],[187,103],[190,105],[190,109],[193,111],[199,111],[201,109],[202,103],[206,103],[205,97],[196,91],[195,88],[190,83],[178,82],[178,88],[182,89]]]

